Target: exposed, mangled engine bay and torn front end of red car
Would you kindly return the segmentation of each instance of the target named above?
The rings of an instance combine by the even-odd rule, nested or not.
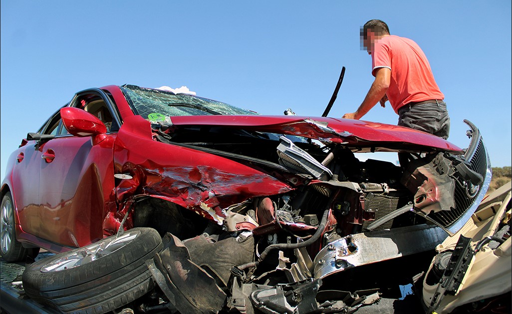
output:
[[[179,188],[210,193],[214,201],[185,207],[139,195],[128,223],[163,236],[164,249],[149,266],[169,309],[352,312],[377,302],[382,287],[337,276],[433,250],[475,210],[490,173],[478,129],[468,124],[473,138],[464,155],[401,152],[412,156],[405,167],[360,161],[354,154],[360,147],[328,140],[154,124],[157,141],[225,157],[287,186],[275,194],[246,197],[250,191],[242,187],[217,197],[212,191],[222,190],[215,186],[222,180],[214,177],[228,174],[200,169],[184,174]],[[173,265],[193,269],[187,273],[193,279]],[[214,292],[206,296],[204,287]]]

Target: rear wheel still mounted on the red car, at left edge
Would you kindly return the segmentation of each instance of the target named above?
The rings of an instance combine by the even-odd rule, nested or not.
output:
[[[24,261],[27,257],[34,259],[39,248],[25,248],[16,240],[14,216],[14,202],[7,192],[0,207],[0,256],[7,262]]]

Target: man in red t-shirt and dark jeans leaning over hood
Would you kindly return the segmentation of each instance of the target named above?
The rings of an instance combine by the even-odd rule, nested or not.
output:
[[[385,107],[389,100],[398,125],[448,138],[450,117],[444,95],[421,48],[409,38],[390,35],[388,25],[379,19],[369,20],[360,35],[372,56],[375,80],[357,111],[343,118],[360,119],[377,102]]]

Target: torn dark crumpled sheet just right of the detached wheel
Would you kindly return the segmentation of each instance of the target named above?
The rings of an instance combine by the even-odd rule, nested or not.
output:
[[[190,260],[188,249],[180,239],[167,233],[163,242],[164,249],[155,256],[154,266],[151,261],[148,266],[171,307],[181,313],[219,312],[226,294],[215,279]]]

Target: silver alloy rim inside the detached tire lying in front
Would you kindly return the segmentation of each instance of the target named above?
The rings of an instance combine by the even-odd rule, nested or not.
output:
[[[126,246],[139,235],[139,231],[127,231],[121,236],[109,237],[78,250],[72,250],[61,258],[42,266],[41,272],[61,271],[93,262]]]

